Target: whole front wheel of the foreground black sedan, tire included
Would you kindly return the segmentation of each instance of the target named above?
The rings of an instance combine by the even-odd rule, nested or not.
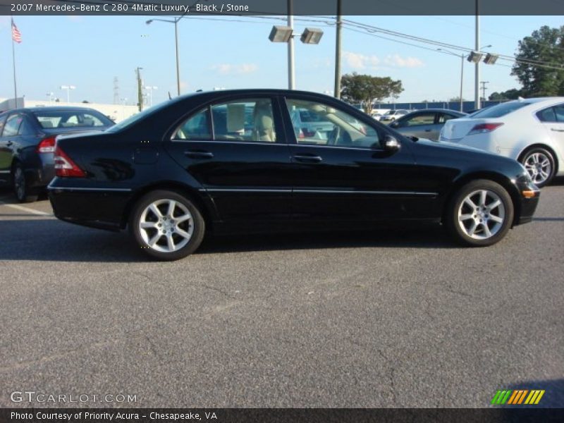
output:
[[[482,197],[484,191],[485,200]],[[469,196],[470,202],[467,202]],[[488,208],[497,202],[499,204],[496,207]],[[475,207],[470,207],[470,204]],[[498,243],[511,228],[515,213],[507,190],[486,179],[474,180],[462,186],[447,207],[448,230],[458,243],[471,247],[487,247]]]

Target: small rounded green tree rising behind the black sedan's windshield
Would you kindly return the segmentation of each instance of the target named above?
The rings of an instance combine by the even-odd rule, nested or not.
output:
[[[372,102],[381,102],[387,97],[398,98],[403,92],[401,81],[390,77],[359,75],[356,72],[341,77],[341,98],[348,103],[362,103],[370,114]]]

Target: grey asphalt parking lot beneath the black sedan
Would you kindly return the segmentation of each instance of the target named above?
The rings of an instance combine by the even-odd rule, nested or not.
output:
[[[0,192],[0,406],[564,406],[564,181],[493,247],[441,231],[212,238],[149,261],[125,234]],[[72,404],[71,404],[72,405]]]

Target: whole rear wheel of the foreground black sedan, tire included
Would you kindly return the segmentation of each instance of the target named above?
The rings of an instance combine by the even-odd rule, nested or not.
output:
[[[172,202],[175,205],[173,216],[170,216],[168,212]],[[149,209],[151,205],[157,208],[157,212],[154,208]],[[186,216],[190,218],[181,221]],[[154,228],[141,228],[142,224],[152,226],[153,223]],[[205,221],[200,210],[184,195],[175,191],[156,190],[137,201],[130,214],[129,229],[135,243],[144,252],[155,259],[171,261],[182,259],[197,250],[204,239]],[[172,239],[173,248],[169,238]],[[176,247],[177,250],[174,249]]]

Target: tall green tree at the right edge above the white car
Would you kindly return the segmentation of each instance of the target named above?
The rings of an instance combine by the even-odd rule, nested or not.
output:
[[[519,42],[511,75],[523,86],[524,97],[564,95],[564,26],[543,26]],[[527,62],[523,62],[527,61]],[[553,68],[539,66],[550,63]],[[561,68],[561,69],[558,69]]]

